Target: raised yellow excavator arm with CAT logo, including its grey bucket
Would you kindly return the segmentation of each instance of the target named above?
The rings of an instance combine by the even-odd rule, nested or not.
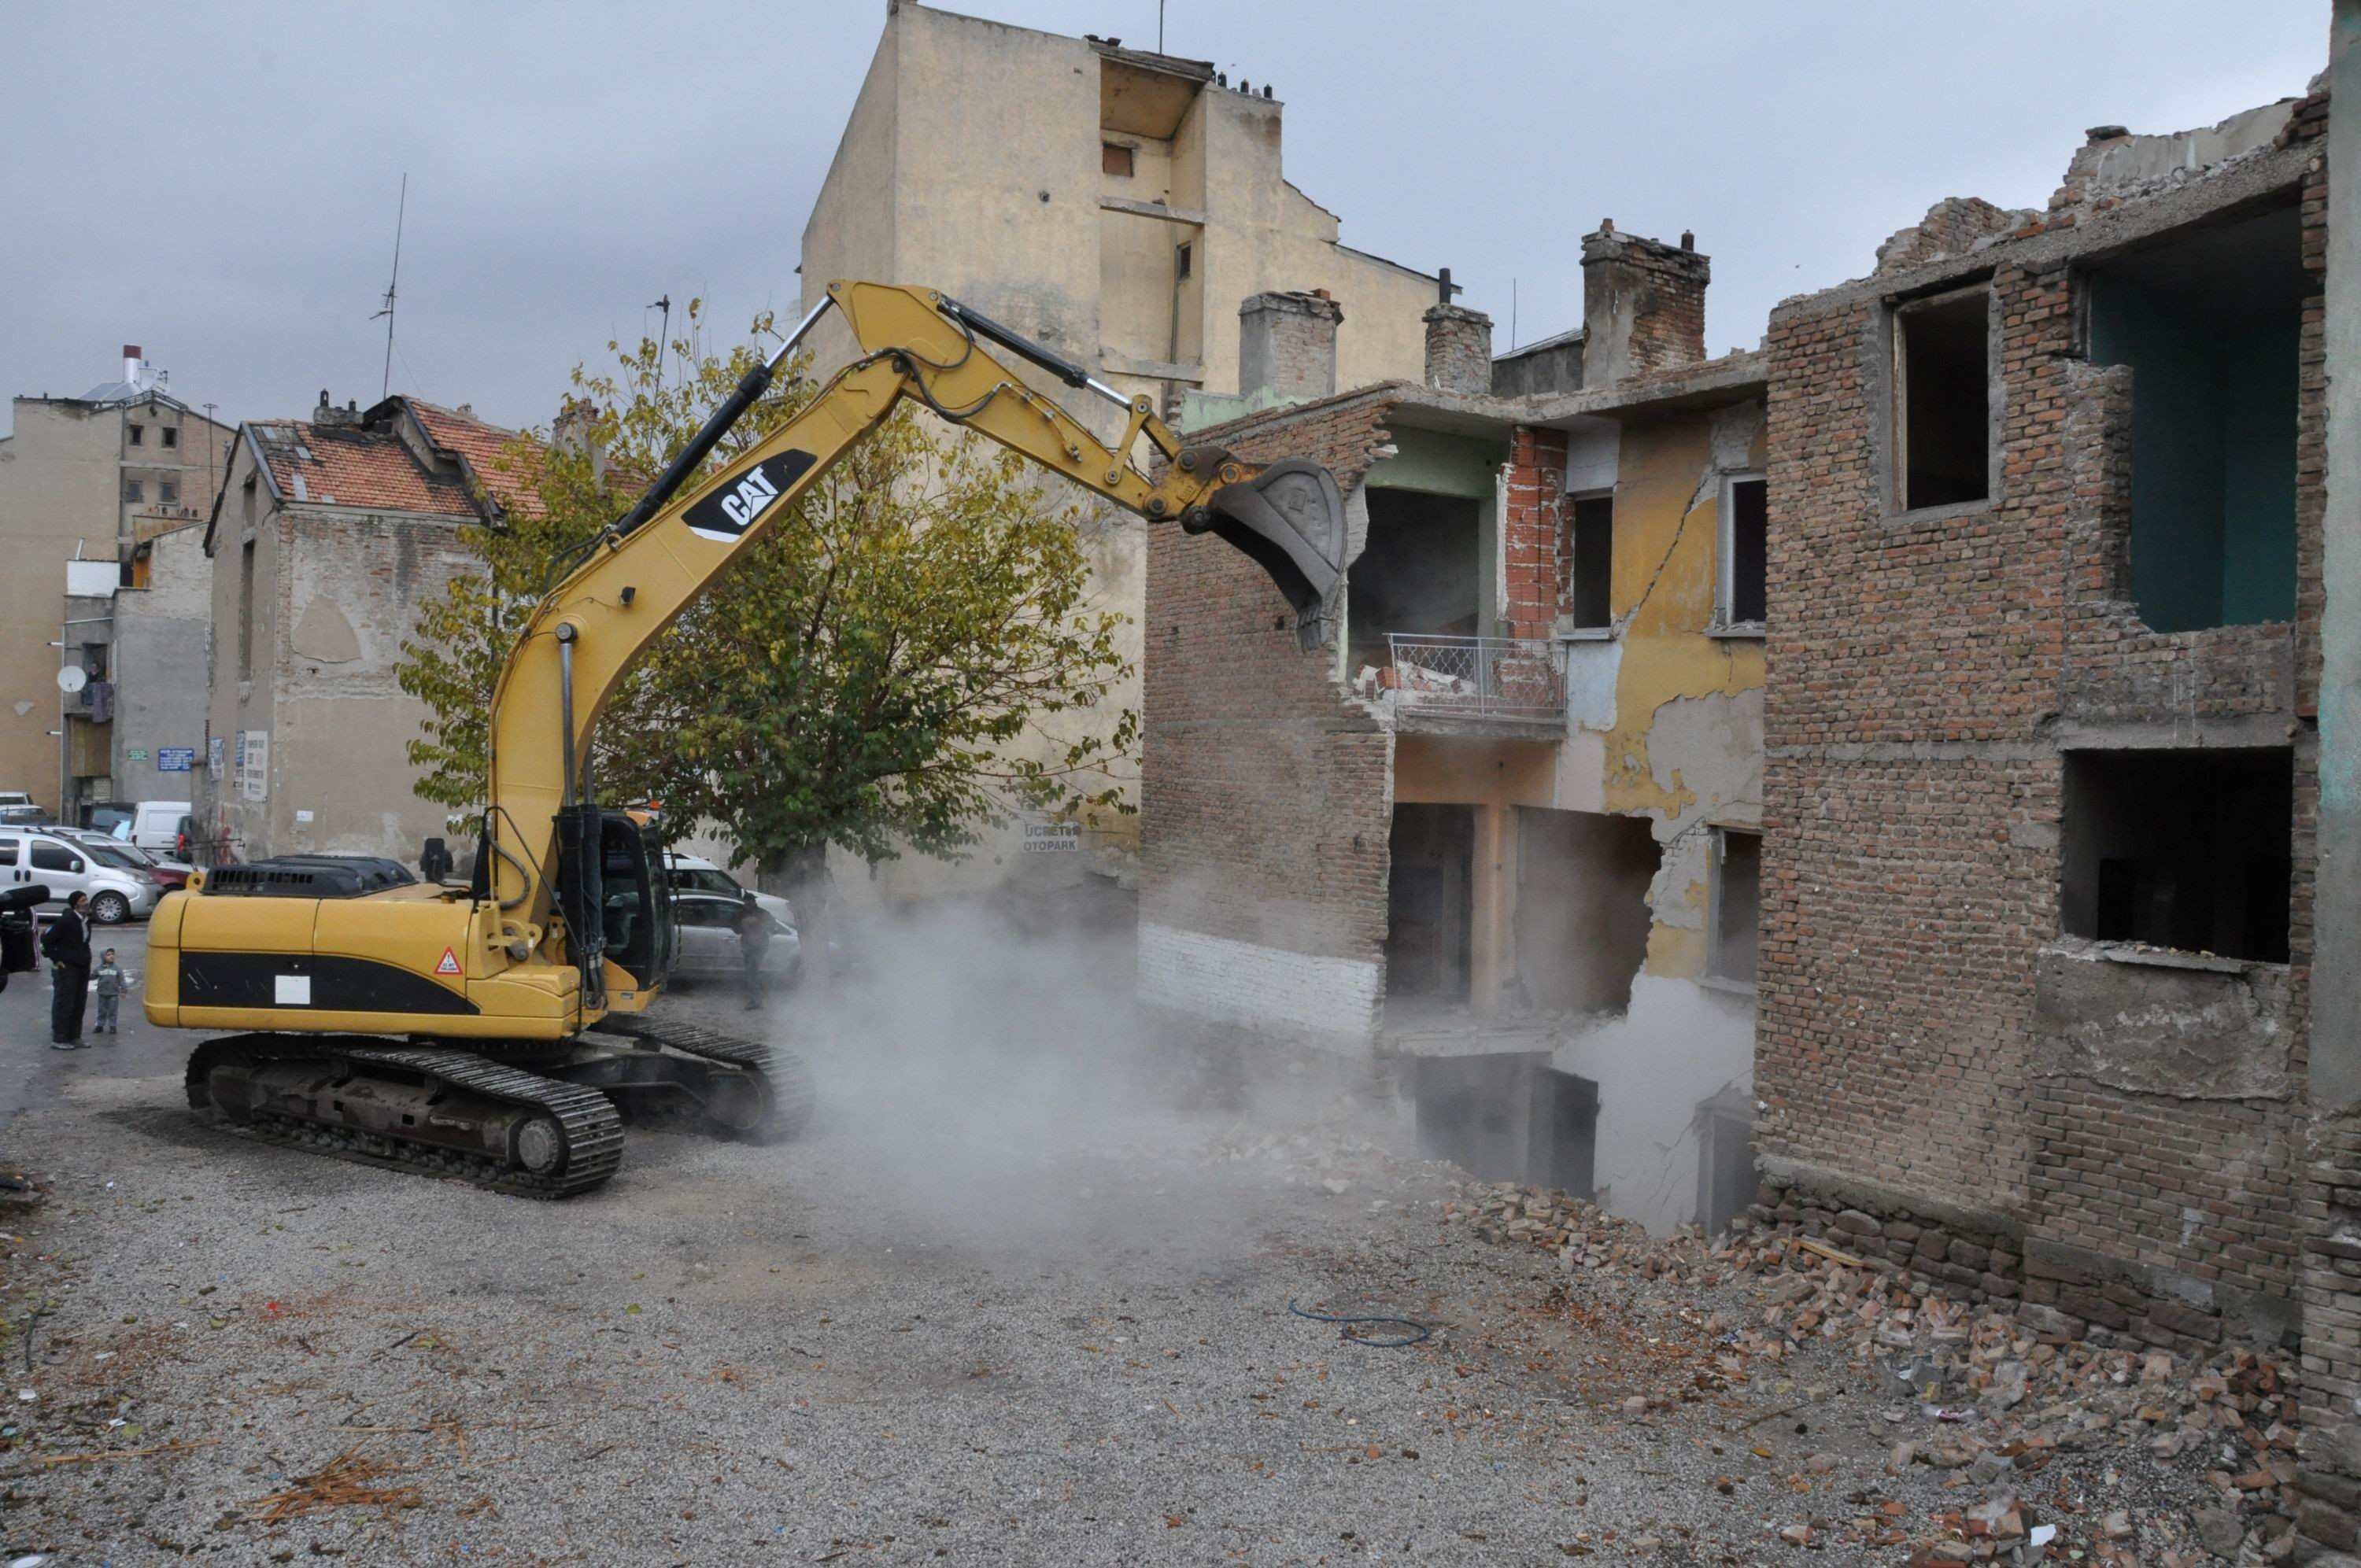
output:
[[[829,312],[843,312],[859,357],[803,411],[701,482],[722,435]],[[1032,390],[985,345],[1124,409],[1114,446]],[[829,283],[829,295],[715,409],[647,496],[607,529],[543,597],[491,701],[491,779],[479,893],[501,909],[501,947],[527,963],[571,961],[600,985],[600,819],[586,767],[590,734],[633,661],[902,399],[992,437],[1150,522],[1216,534],[1254,557],[1296,612],[1306,647],[1325,640],[1341,581],[1343,505],[1317,463],[1254,465],[1185,446],[1147,397],[1126,399],[1081,366],[926,288]],[[1159,468],[1133,463],[1140,439]],[[567,933],[576,933],[567,937]]]

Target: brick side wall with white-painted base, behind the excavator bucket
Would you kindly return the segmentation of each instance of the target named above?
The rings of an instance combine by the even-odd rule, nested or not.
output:
[[[1195,432],[1327,463],[1348,496],[1384,446],[1362,392]],[[1367,1039],[1386,937],[1393,737],[1296,645],[1261,567],[1147,531],[1140,994],[1275,1032]]]

